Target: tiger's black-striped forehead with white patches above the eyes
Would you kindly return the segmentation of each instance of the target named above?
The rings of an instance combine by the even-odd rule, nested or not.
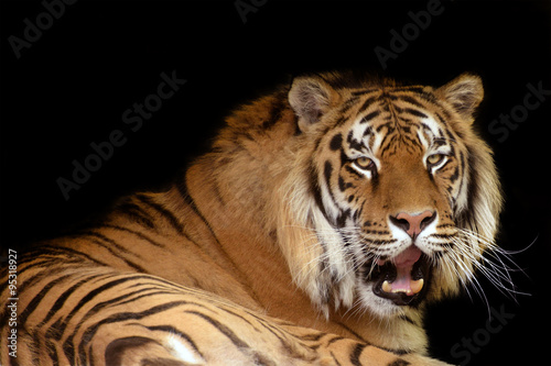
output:
[[[454,152],[450,142],[455,141],[455,133],[446,123],[450,113],[431,89],[354,90],[339,112],[334,127],[345,130],[341,130],[338,136],[331,136],[329,148],[345,147],[350,157],[367,155],[376,158],[379,153],[391,156],[400,149],[410,154]]]

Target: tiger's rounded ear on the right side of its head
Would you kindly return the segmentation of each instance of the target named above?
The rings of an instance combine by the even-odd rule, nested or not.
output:
[[[472,122],[474,112],[484,98],[484,88],[478,76],[462,74],[436,89],[436,95],[452,104],[461,117]]]

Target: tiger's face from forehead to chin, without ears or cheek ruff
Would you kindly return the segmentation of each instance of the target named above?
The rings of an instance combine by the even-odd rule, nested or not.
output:
[[[315,166],[321,208],[357,267],[357,295],[386,312],[421,301],[434,262],[453,245],[465,146],[430,111],[392,103],[400,92],[371,97],[321,140]]]

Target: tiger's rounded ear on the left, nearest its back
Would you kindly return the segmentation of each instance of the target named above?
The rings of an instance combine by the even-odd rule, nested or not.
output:
[[[320,121],[337,97],[338,93],[320,76],[296,77],[289,91],[289,103],[299,118],[301,131]]]

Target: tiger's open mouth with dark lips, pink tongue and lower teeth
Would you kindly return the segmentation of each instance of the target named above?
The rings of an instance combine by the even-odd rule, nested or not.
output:
[[[397,306],[414,306],[424,298],[431,268],[424,254],[410,246],[391,260],[377,262],[370,275],[374,293]]]

